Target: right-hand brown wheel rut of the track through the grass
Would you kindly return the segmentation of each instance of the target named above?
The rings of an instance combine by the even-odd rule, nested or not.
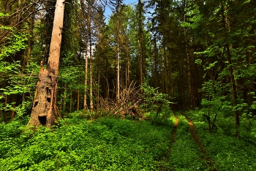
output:
[[[195,144],[200,149],[200,153],[203,154],[203,155],[200,155],[200,158],[206,160],[206,163],[208,164],[208,167],[210,168],[210,170],[214,171],[215,169],[212,168],[214,165],[214,161],[209,158],[209,156],[206,153],[206,149],[203,147],[202,143],[200,142],[197,132],[195,131],[194,123],[186,115],[184,115],[184,117],[187,119],[189,123],[189,130],[192,134],[192,139],[195,141]]]

